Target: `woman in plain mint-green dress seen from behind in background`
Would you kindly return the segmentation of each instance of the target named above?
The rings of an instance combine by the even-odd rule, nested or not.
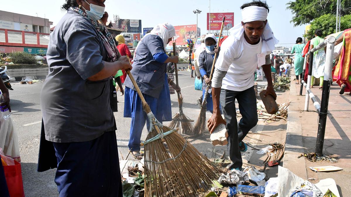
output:
[[[305,45],[302,43],[302,38],[296,39],[296,45],[292,47],[291,54],[295,53],[294,67],[295,67],[295,75],[296,82],[295,84],[299,84],[302,79],[302,70],[304,66],[304,58],[302,57],[302,51]]]

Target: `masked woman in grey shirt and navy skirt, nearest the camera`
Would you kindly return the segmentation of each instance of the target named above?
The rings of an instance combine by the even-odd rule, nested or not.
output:
[[[104,25],[104,2],[66,0],[50,35],[38,171],[57,168],[60,197],[122,196],[111,80],[132,67]]]

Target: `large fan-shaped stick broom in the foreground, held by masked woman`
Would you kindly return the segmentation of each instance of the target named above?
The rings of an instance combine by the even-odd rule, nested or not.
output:
[[[126,72],[150,120],[150,133],[146,141],[140,143],[145,145],[145,196],[196,197],[199,192],[207,191],[212,181],[219,177],[216,165],[175,132],[177,129],[156,120],[134,77],[129,70]]]

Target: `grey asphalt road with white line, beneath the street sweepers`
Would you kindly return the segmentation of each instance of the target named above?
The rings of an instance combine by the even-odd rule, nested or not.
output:
[[[184,113],[196,120],[199,115],[199,107],[197,106],[197,98],[202,94],[201,91],[194,90],[194,78],[190,78],[190,73],[186,71],[179,72],[180,76],[180,87],[184,95]],[[259,85],[264,85],[266,82],[260,82]],[[11,107],[12,107],[12,118],[14,126],[19,135],[19,143],[22,158],[22,175],[24,181],[24,188],[26,196],[58,196],[57,187],[54,183],[55,169],[48,170],[46,172],[37,172],[37,160],[38,160],[38,149],[39,149],[39,136],[41,127],[41,110],[40,110],[40,91],[42,83],[39,84],[14,84],[14,91],[10,92]],[[278,101],[287,102],[284,94],[280,95]],[[118,96],[120,101],[119,110],[120,112],[114,113],[117,121],[117,141],[119,145],[120,158],[124,158],[128,154],[128,139],[130,130],[130,118],[123,117],[123,106],[124,97]],[[173,114],[178,111],[177,95],[171,95],[172,111]],[[210,113],[207,112],[207,118],[210,117]],[[73,118],[73,117],[72,117]],[[254,133],[265,133],[270,136],[263,136],[259,134],[250,135],[253,138],[258,138],[262,142],[260,143],[283,143],[285,141],[285,130],[286,122],[280,121],[270,124],[265,124],[262,121],[259,122],[257,127],[253,128]],[[144,128],[142,139],[146,138],[146,128]],[[210,136],[204,134],[197,139],[190,139],[190,142],[203,154],[208,157],[211,156],[211,152],[208,152],[208,148],[212,148],[209,140]],[[257,142],[251,138],[245,138],[249,142]],[[258,144],[264,146],[264,144]],[[226,147],[216,147],[216,151],[221,152]],[[218,156],[217,156],[218,157]],[[244,154],[243,158],[255,165],[261,165],[265,160],[265,157],[256,154],[252,148]],[[268,169],[268,176],[275,176],[277,174],[277,168]]]

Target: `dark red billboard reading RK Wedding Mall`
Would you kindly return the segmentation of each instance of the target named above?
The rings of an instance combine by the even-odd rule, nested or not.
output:
[[[223,30],[229,30],[234,26],[234,13],[207,13],[207,30],[220,30],[220,27],[225,17]]]

